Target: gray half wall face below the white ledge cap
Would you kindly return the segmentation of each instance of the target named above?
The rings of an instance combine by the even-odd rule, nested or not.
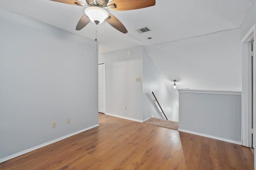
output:
[[[179,129],[241,141],[241,95],[179,92]]]

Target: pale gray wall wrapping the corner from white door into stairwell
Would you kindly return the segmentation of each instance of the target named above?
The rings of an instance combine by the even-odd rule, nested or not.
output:
[[[152,103],[154,91],[168,119],[178,121],[178,107],[144,47],[100,54],[99,62],[106,62],[106,113],[140,121],[162,118]]]

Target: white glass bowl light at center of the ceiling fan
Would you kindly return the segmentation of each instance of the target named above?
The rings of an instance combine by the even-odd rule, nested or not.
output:
[[[89,6],[84,10],[84,13],[96,24],[102,23],[108,18],[108,12],[98,6]]]

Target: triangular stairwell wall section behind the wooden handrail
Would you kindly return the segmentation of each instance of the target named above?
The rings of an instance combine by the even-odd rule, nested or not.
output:
[[[174,88],[172,88],[174,90]],[[154,92],[166,117],[171,121],[178,121],[178,107],[172,98],[164,80],[152,62],[148,52],[143,47],[143,120],[151,115],[162,119],[154,104]]]

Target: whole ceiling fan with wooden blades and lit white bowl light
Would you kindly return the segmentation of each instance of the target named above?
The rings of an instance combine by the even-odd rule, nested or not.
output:
[[[126,11],[126,10],[136,10],[140,8],[147,8],[154,6],[156,4],[155,0],[86,0],[86,4],[78,0],[51,0],[55,2],[61,2],[64,4],[85,6],[85,15],[78,21],[76,25],[76,30],[81,30],[90,21],[96,23],[102,23],[106,21],[112,27],[121,31],[122,33],[127,33],[127,29],[124,25],[113,15],[109,14],[105,9]]]

